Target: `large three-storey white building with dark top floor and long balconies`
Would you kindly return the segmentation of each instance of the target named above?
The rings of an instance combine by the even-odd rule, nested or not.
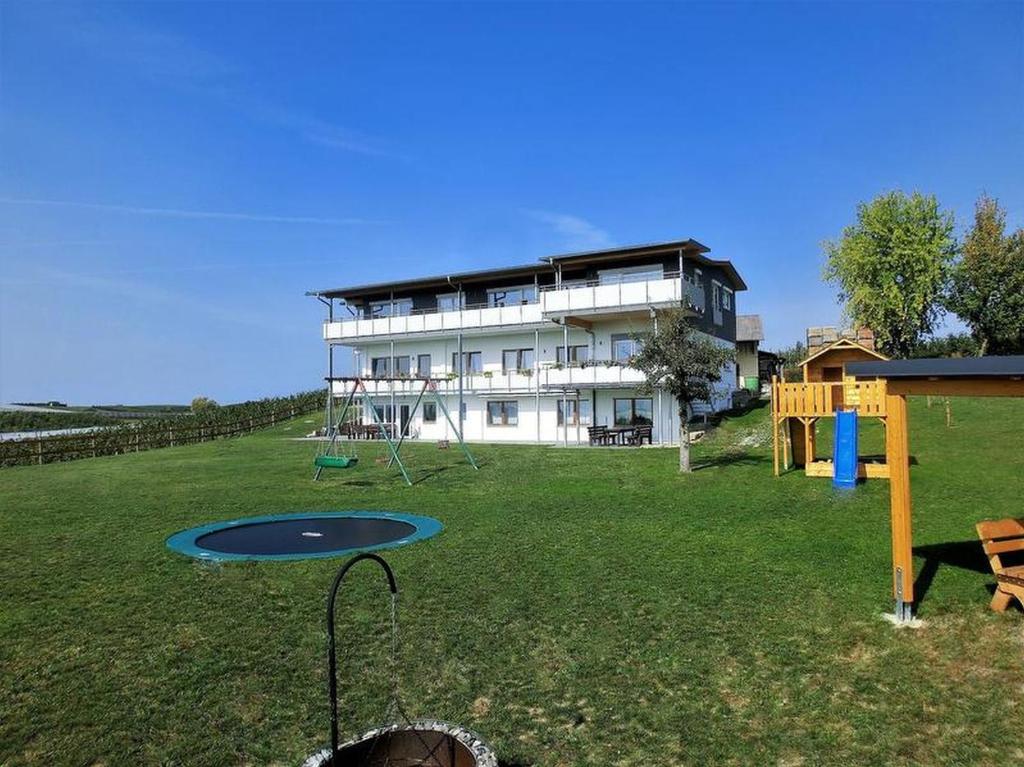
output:
[[[467,440],[577,443],[591,425],[649,423],[655,443],[672,443],[675,401],[639,394],[643,376],[629,361],[635,335],[668,307],[686,309],[701,332],[734,347],[736,293],[746,286],[708,252],[683,240],[309,295],[328,310],[329,375],[342,368],[335,350],[350,349],[378,414],[399,428],[422,388],[416,378],[431,377],[441,379],[456,423],[461,412]],[[730,366],[713,409],[727,407],[735,382]],[[334,387],[342,394],[350,384]],[[443,414],[425,401],[410,436],[452,437]]]

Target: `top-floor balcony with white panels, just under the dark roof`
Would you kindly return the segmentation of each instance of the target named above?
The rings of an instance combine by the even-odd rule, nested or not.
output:
[[[543,328],[566,314],[614,314],[685,306],[696,313],[706,309],[702,285],[682,281],[678,273],[658,280],[598,281],[542,287],[538,300],[513,306],[467,306],[461,311],[414,309],[408,314],[351,317],[324,323],[324,340],[334,343],[395,336],[451,336],[455,333],[521,331]]]

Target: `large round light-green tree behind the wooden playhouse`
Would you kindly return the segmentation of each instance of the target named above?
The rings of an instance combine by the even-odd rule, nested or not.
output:
[[[824,278],[853,325],[873,330],[891,356],[909,356],[942,309],[956,251],[952,214],[932,196],[891,191],[858,205],[857,222],[824,251]]]

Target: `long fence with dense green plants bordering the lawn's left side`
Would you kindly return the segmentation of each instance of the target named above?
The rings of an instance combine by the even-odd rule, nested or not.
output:
[[[0,467],[75,461],[80,458],[117,456],[157,448],[208,442],[213,439],[249,434],[321,408],[319,404],[311,403],[294,404],[222,424],[189,424],[189,418],[184,416],[180,423],[161,421],[159,425],[152,425],[143,421],[138,424],[98,428],[87,433],[11,439],[0,442]]]

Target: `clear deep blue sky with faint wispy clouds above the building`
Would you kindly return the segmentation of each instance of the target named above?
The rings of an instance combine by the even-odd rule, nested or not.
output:
[[[691,237],[768,345],[858,201],[1024,224],[1024,4],[0,6],[0,401],[311,388],[310,288]]]

